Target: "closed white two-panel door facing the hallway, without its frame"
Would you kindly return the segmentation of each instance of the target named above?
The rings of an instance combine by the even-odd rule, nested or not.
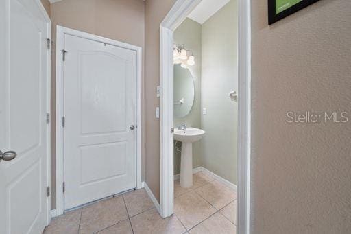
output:
[[[136,51],[64,36],[64,209],[136,187]]]

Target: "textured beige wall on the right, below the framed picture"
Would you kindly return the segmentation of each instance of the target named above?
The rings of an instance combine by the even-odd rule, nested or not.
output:
[[[348,124],[287,124],[287,111]],[[351,1],[267,25],[252,4],[252,233],[351,233]]]

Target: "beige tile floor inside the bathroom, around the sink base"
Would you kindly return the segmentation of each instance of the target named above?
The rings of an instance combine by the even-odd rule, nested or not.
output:
[[[174,215],[188,233],[236,233],[237,194],[204,172],[190,188],[174,181],[174,196]]]

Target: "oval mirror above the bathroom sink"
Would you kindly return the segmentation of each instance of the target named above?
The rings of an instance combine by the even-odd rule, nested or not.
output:
[[[174,65],[174,117],[182,118],[189,115],[193,107],[195,97],[195,85],[193,75],[188,68],[179,64]]]

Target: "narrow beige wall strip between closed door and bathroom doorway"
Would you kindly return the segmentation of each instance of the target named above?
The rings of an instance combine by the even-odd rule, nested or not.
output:
[[[160,23],[175,0],[145,1],[145,182],[160,201],[160,121],[156,86],[160,84]]]

